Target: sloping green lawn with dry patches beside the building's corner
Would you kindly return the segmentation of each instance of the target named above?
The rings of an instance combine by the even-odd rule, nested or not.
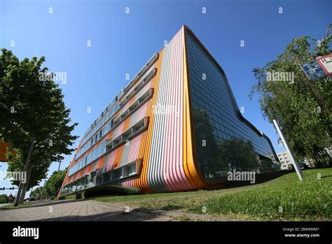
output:
[[[93,199],[232,219],[331,220],[332,169],[305,170],[303,174],[303,182],[298,180],[296,173],[290,173],[263,184],[232,189],[102,196]]]

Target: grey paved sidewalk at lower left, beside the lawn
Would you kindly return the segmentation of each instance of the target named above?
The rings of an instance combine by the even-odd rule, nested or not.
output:
[[[129,210],[129,212],[128,212]],[[125,212],[127,211],[127,212]],[[0,209],[0,221],[172,221],[172,217],[99,203],[92,200],[34,203],[31,207]]]

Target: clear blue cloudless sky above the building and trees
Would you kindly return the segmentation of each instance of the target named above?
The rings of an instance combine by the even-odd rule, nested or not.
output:
[[[50,7],[53,13],[49,13]],[[206,14],[202,14],[202,7]],[[332,1],[328,0],[0,0],[0,46],[13,50],[20,59],[45,56],[50,71],[67,72],[67,83],[60,82],[60,87],[72,121],[78,122],[74,134],[82,136],[127,84],[125,74],[132,79],[162,48],[164,40],[188,25],[223,67],[237,104],[244,107],[244,117],[270,137],[276,151],[284,151],[277,145],[272,124],[264,121],[257,97],[252,101],[248,98],[255,83],[251,71],[273,60],[296,36],[321,39],[332,22],[331,12]],[[87,107],[92,108],[91,114]],[[65,157],[62,169],[73,156]],[[58,163],[53,163],[48,176],[57,167]],[[0,170],[6,170],[6,164]],[[3,183],[1,187],[10,186],[10,182]],[[15,193],[0,194],[10,192]]]

